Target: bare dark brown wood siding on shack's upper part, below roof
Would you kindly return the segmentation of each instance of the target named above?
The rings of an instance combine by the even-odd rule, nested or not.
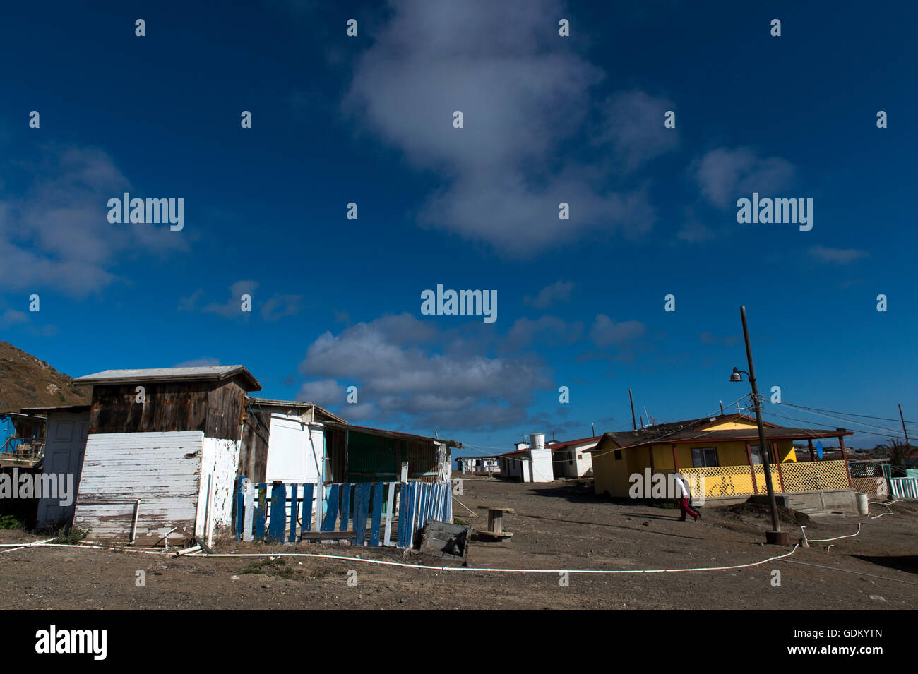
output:
[[[137,402],[137,387],[144,401]],[[138,381],[93,387],[89,432],[168,433],[201,431],[238,440],[245,392],[235,381]]]

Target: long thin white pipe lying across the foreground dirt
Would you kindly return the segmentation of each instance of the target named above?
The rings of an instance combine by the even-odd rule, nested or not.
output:
[[[81,548],[96,548],[96,549],[106,549],[106,550],[127,550],[130,552],[143,552],[149,555],[169,555],[173,557],[173,553],[159,551],[159,550],[140,550],[136,547],[103,547],[103,546],[72,546],[66,545],[63,543],[39,543],[33,544],[31,547],[81,547]],[[701,567],[697,569],[484,569],[478,567],[435,567],[426,564],[408,564],[407,562],[394,562],[388,561],[386,559],[362,559],[359,557],[347,557],[345,555],[325,555],[322,553],[313,553],[313,552],[257,552],[257,553],[221,553],[221,554],[204,554],[200,557],[219,557],[219,558],[252,558],[252,557],[311,557],[311,558],[323,558],[323,559],[343,559],[346,561],[358,561],[365,562],[367,564],[382,564],[389,567],[402,567],[405,569],[427,569],[434,571],[478,571],[478,572],[487,572],[487,573],[602,573],[602,574],[612,574],[612,573],[682,573],[688,571],[727,571],[731,569],[746,569],[748,567],[757,567],[762,564],[767,564],[770,561],[775,559],[782,559],[790,557],[793,555],[797,548],[800,547],[799,544],[795,544],[793,549],[790,552],[785,553],[784,555],[778,555],[776,557],[769,557],[767,559],[762,559],[757,562],[750,562],[748,564],[737,564],[730,567]]]

